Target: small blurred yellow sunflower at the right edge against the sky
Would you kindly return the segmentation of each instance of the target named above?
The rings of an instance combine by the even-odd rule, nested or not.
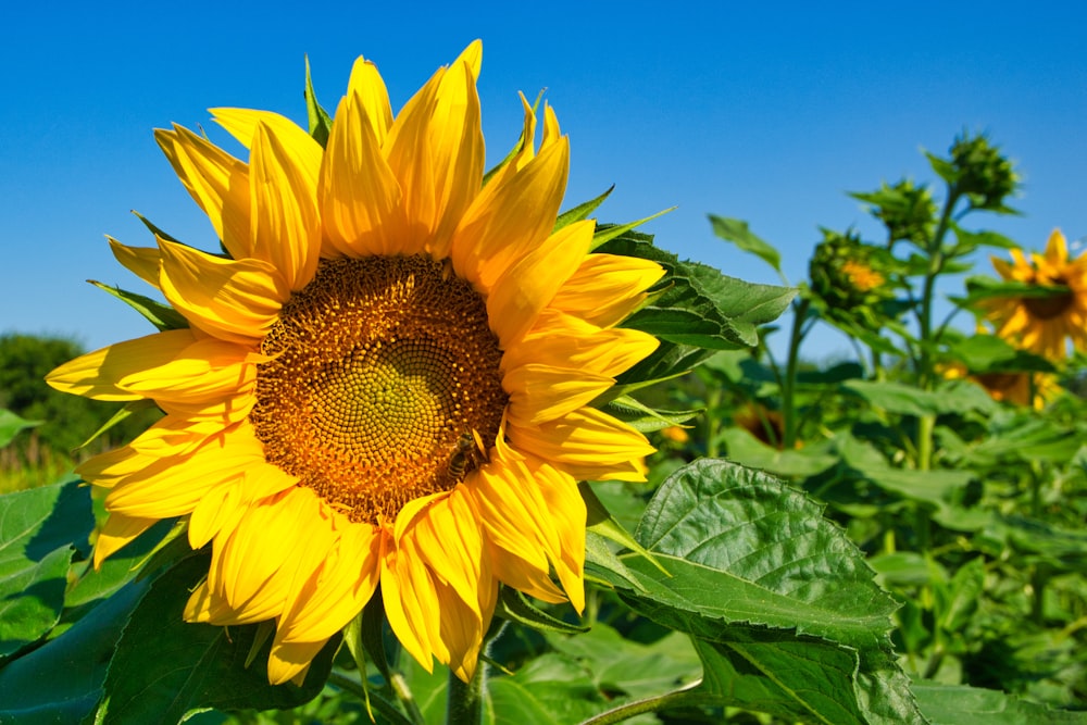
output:
[[[1041,297],[1000,297],[982,303],[986,320],[1000,337],[1050,360],[1067,357],[1067,340],[1087,350],[1087,254],[1069,260],[1064,235],[1054,229],[1045,254],[1027,260],[1019,249],[1013,262],[992,258],[992,266],[1009,282],[1063,288]]]

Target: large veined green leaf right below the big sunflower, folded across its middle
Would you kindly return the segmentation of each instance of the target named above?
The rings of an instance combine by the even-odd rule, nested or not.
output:
[[[737,672],[765,680],[728,690],[734,698],[782,698],[770,710],[763,699],[728,704],[825,722],[839,722],[844,712],[861,722],[923,722],[890,646],[896,602],[875,584],[857,547],[802,492],[734,463],[696,461],[664,482],[635,537],[669,575],[644,558],[625,557],[644,591],[616,578],[624,600],[712,645]],[[810,692],[810,668],[794,661],[812,642],[825,642],[819,657],[849,673],[834,679],[828,693]],[[703,662],[711,650],[701,650]],[[848,663],[854,657],[855,671]],[[719,678],[711,687],[727,686]]]

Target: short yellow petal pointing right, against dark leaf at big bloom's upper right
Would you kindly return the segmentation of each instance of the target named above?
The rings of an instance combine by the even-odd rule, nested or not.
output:
[[[589,254],[551,302],[555,310],[600,327],[623,321],[664,275],[655,262],[615,254]]]

